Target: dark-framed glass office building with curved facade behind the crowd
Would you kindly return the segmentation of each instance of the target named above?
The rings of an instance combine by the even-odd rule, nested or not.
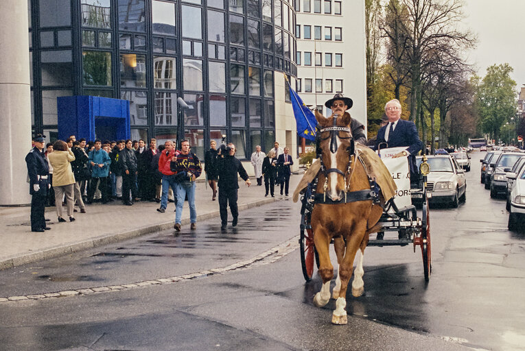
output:
[[[132,138],[226,134],[245,158],[275,141],[275,94],[295,77],[292,0],[29,0],[32,124],[57,135],[56,98],[130,101]],[[282,84],[282,82],[279,82]],[[182,109],[182,97],[189,108]]]

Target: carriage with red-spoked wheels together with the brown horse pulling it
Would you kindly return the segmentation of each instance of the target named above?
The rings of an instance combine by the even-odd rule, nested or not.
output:
[[[329,245],[334,244],[338,261],[338,275],[332,298],[336,299],[336,310],[332,323],[347,324],[346,292],[349,280],[352,295],[358,297],[364,291],[362,262],[364,249],[368,246],[412,245],[421,247],[425,280],[432,271],[430,255],[430,221],[426,194],[428,164],[420,166],[422,189],[415,191],[423,200],[422,216],[418,217],[413,204],[398,206],[395,201],[396,185],[384,163],[366,147],[353,142],[349,129],[350,116],[326,118],[316,114],[320,145],[318,162],[310,167],[303,177],[294,201],[301,196],[301,265],[305,280],[312,279],[314,263],[317,263],[323,287],[314,296],[316,306],[325,306],[330,298],[330,281],[334,267],[329,258]],[[370,156],[370,153],[373,155]],[[369,158],[366,162],[365,155]],[[370,162],[370,158],[377,158]],[[407,162],[406,157],[399,158]],[[383,167],[388,182],[377,180],[371,164]],[[380,164],[380,165],[377,165]],[[408,168],[407,168],[408,169]],[[310,178],[307,174],[310,173]],[[307,180],[305,180],[307,178]],[[310,179],[310,181],[309,181]],[[376,182],[377,180],[377,182]],[[307,182],[307,185],[305,183]],[[410,180],[409,188],[410,188]],[[379,184],[379,185],[378,185]],[[408,194],[410,197],[410,189]],[[392,237],[391,233],[395,233]],[[375,239],[371,236],[375,235]],[[355,271],[353,270],[356,260]]]

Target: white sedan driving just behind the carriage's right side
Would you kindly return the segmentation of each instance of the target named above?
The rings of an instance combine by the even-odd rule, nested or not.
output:
[[[422,156],[417,156],[417,167]],[[459,202],[467,199],[467,181],[465,171],[455,158],[450,155],[427,156],[430,173],[427,176],[427,194],[429,202],[447,202],[458,207]]]

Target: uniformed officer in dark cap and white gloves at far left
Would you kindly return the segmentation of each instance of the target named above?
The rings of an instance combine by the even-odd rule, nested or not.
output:
[[[45,136],[36,134],[33,138],[34,147],[25,156],[27,175],[30,181],[31,199],[31,231],[43,232],[49,230],[45,224],[45,202],[49,192],[49,165],[44,156]]]

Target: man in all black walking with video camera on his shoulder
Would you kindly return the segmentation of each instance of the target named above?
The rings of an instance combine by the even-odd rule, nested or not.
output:
[[[228,223],[228,203],[230,204],[231,215],[233,221],[231,226],[237,226],[237,217],[239,217],[239,210],[237,209],[237,189],[239,183],[237,182],[237,173],[250,186],[250,178],[248,173],[240,160],[235,158],[235,145],[229,143],[226,147],[222,145],[218,152],[217,170],[219,175],[219,211],[221,230],[226,230],[226,223]]]

